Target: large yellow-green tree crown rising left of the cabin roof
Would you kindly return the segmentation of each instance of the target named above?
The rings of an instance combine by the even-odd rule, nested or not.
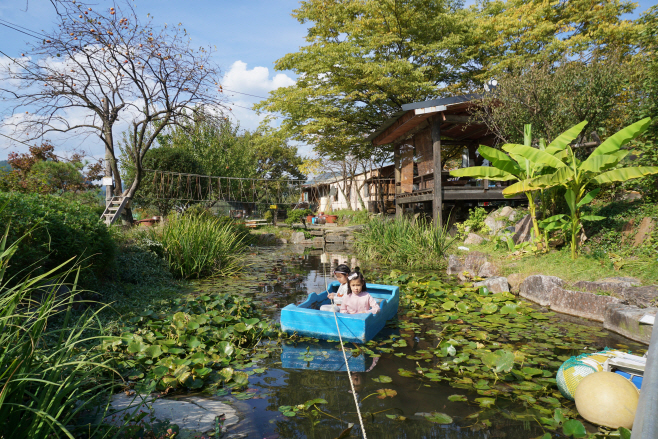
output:
[[[365,135],[405,103],[442,95],[469,74],[470,12],[454,0],[302,1],[307,45],[279,59],[295,85],[256,108],[285,116],[286,137],[333,160],[373,152]]]

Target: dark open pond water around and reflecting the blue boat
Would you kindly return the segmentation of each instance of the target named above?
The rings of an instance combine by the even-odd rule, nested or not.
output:
[[[300,303],[310,292],[321,292],[331,282],[330,272],[338,263],[355,266],[349,251],[333,253],[299,253],[293,246],[255,248],[250,255],[249,272],[238,280],[205,280],[195,284],[199,292],[240,292],[251,295],[263,310],[278,320],[280,309],[289,303]],[[325,277],[325,274],[327,277]],[[400,307],[402,311],[402,304]],[[448,381],[432,381],[418,373],[400,375],[400,370],[431,368],[440,358],[413,357],[415,352],[437,346],[440,323],[414,316],[399,315],[399,323],[385,328],[376,340],[404,337],[406,347],[395,353],[372,358],[348,345],[350,368],[365,429],[370,438],[534,438],[545,430],[537,415],[520,399],[497,398],[495,405],[482,408],[473,404],[481,397],[472,389],[454,387]],[[551,318],[563,319],[560,316]],[[405,322],[415,322],[409,329]],[[402,323],[402,324],[400,324]],[[578,319],[571,324],[591,326]],[[598,325],[598,324],[597,324]],[[394,327],[396,326],[396,327]],[[577,328],[578,326],[574,326]],[[596,349],[621,347],[640,352],[643,346],[602,329],[595,341]],[[520,340],[517,343],[524,343]],[[557,348],[556,348],[557,349]],[[256,373],[249,377],[249,388],[227,398],[250,411],[249,438],[337,438],[348,423],[356,424],[351,436],[362,437],[339,343],[314,340],[270,343],[269,358],[260,360]],[[559,349],[562,356],[580,352]],[[407,358],[412,356],[413,359]],[[453,383],[454,384],[454,383]],[[463,386],[462,386],[463,387]],[[385,391],[381,391],[385,389]],[[378,393],[378,391],[380,391]],[[555,392],[556,390],[553,389]],[[393,396],[391,396],[393,395]],[[465,395],[469,402],[453,402],[451,395]],[[295,406],[320,398],[309,409]],[[453,396],[453,399],[455,397]],[[320,411],[315,411],[317,408]],[[286,412],[286,415],[284,415]],[[451,423],[432,422],[426,414],[438,412],[452,418]],[[292,416],[291,416],[292,415]],[[436,421],[437,419],[434,419]]]

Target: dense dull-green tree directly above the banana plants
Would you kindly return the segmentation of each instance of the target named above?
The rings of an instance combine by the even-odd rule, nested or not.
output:
[[[498,76],[498,85],[480,100],[475,117],[503,143],[521,142],[528,123],[537,138],[548,142],[582,120],[603,136],[611,116],[625,108],[620,96],[628,73],[620,56],[563,58],[558,63],[544,59]]]

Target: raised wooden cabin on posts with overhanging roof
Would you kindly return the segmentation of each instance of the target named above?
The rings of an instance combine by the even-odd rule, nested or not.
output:
[[[373,146],[394,148],[396,215],[431,211],[434,223],[441,225],[455,206],[521,202],[519,197],[503,197],[506,182],[449,175],[450,169],[486,165],[477,148],[495,146],[493,133],[471,117],[478,98],[465,95],[403,105],[370,135]]]

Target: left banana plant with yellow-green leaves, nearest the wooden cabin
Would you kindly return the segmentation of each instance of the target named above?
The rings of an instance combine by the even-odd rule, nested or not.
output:
[[[532,127],[530,124],[526,124],[523,129],[523,145],[511,143],[503,145],[503,151],[508,152],[509,155],[503,151],[480,145],[478,152],[482,157],[489,160],[491,166],[473,166],[470,168],[456,169],[450,171],[450,175],[452,177],[472,177],[493,181],[518,180],[521,182],[533,179],[547,172],[553,172],[557,167],[565,166],[559,158],[554,157],[554,154],[562,151],[571,140],[564,137],[563,134],[543,150],[532,148]],[[544,142],[540,143],[543,147]],[[519,191],[523,192],[528,198],[528,210],[532,219],[535,239],[540,239],[541,237],[537,223],[537,204],[535,203],[534,194],[534,191],[538,189],[540,188],[529,188]],[[512,195],[516,193],[518,192]],[[503,194],[506,194],[505,191],[503,191]]]

